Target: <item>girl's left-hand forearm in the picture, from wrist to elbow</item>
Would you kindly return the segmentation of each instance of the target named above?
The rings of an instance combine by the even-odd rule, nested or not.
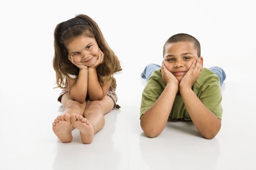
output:
[[[88,70],[79,70],[79,75],[76,83],[72,86],[70,90],[70,98],[83,103],[87,96],[87,81],[88,81]]]

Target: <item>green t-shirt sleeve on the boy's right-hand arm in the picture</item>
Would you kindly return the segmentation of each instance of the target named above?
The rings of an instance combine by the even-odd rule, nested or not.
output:
[[[222,95],[217,77],[213,76],[205,81],[199,99],[218,119],[222,118]]]

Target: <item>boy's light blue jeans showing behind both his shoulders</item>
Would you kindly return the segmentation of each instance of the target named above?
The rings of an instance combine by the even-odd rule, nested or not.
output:
[[[157,65],[157,64],[149,64],[145,67],[145,69],[143,70],[143,72],[141,73],[141,78],[146,79],[148,81],[149,77],[151,76],[151,74],[157,70],[158,68],[161,68],[161,66]],[[224,82],[224,80],[226,79],[226,73],[222,68],[219,67],[211,67],[209,68],[212,72],[214,72],[215,74],[217,74],[217,76],[219,77],[219,84],[220,86],[222,85],[222,83]]]

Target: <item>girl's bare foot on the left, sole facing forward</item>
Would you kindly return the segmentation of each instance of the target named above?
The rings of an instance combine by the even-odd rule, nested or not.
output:
[[[72,133],[71,133],[71,121],[70,115],[65,113],[59,115],[53,122],[53,132],[56,136],[59,137],[59,140],[63,143],[71,142]]]

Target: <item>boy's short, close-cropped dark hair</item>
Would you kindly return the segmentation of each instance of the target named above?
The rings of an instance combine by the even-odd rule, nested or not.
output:
[[[189,34],[184,34],[184,33],[180,33],[180,34],[175,34],[173,36],[171,36],[164,44],[163,46],[163,55],[165,53],[165,46],[169,43],[176,43],[176,42],[192,42],[194,43],[194,47],[197,50],[197,56],[200,57],[201,56],[201,48],[200,48],[200,43],[197,40],[197,38],[195,38],[192,35]]]

